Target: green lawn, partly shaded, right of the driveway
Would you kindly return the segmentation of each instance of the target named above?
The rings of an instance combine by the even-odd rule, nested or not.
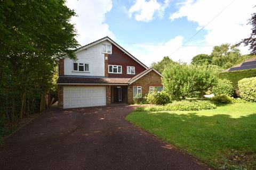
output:
[[[256,169],[256,104],[133,112],[127,120],[217,169]]]

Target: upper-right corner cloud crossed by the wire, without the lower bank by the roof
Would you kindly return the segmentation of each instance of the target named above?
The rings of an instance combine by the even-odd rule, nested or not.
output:
[[[170,20],[186,17],[188,21],[198,23],[198,29],[204,27],[229,5],[204,28],[207,31],[205,40],[208,45],[235,44],[249,37],[251,33],[251,25],[247,25],[247,22],[255,11],[254,1],[187,0],[180,5],[179,10],[170,15]]]

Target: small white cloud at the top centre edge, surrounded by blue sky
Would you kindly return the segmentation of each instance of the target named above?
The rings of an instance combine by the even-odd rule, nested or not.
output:
[[[169,5],[169,0],[164,3],[158,3],[157,0],[136,0],[130,7],[128,13],[132,17],[135,14],[135,20],[149,22],[154,19],[155,14],[158,18],[163,18],[165,8]]]

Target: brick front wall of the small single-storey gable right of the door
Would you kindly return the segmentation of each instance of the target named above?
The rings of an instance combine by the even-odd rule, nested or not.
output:
[[[144,97],[149,92],[149,86],[163,86],[161,76],[154,71],[150,71],[148,74],[144,75],[139,80],[133,82],[128,86],[128,103],[133,103],[132,87],[141,86],[142,97]]]

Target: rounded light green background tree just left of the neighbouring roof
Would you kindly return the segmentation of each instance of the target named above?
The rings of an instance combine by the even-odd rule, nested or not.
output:
[[[214,46],[211,55],[212,64],[218,65],[223,69],[233,66],[241,57],[241,53],[237,46],[230,46],[230,44]]]

